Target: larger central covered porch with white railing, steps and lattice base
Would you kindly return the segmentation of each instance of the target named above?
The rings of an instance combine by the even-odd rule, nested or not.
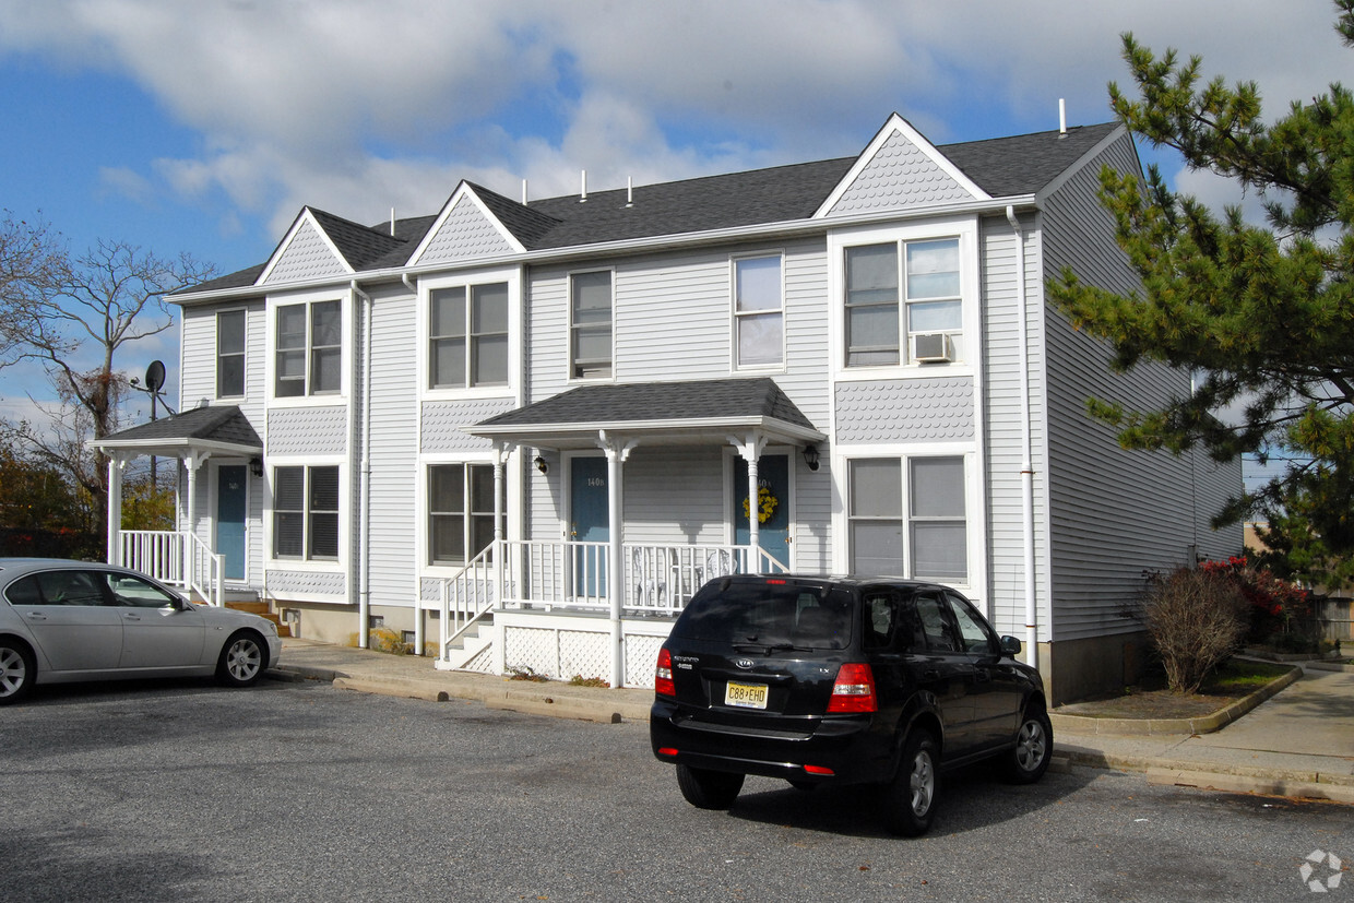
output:
[[[769,495],[764,452],[780,451],[776,479],[784,485],[791,470],[787,452],[803,455],[804,466],[816,471],[818,447],[826,441],[768,378],[581,386],[467,432],[493,444],[500,516],[489,547],[437,588],[437,666],[466,667],[479,657],[485,670],[501,673],[515,665],[515,640],[555,631],[556,658],[566,658],[563,650],[573,643],[578,661],[589,661],[612,686],[635,685],[636,667],[643,671],[638,677],[649,680],[651,658],[670,619],[709,579],[788,570],[788,529],[780,529],[779,542],[770,537],[760,504]],[[531,462],[533,491],[548,489],[547,504],[559,512],[559,539],[539,535],[552,532],[555,523],[543,517],[531,523],[538,535],[502,535],[504,463],[515,449]],[[684,535],[677,513],[662,506],[646,509],[651,505],[647,500],[628,505],[632,516],[650,512],[645,529],[627,520],[627,464],[638,452],[654,452],[646,472],[651,489],[655,479],[685,479],[655,472],[659,466],[654,462],[663,455],[714,452],[718,462],[722,449],[730,449],[737,463],[731,468],[734,495],[745,510],[742,520],[720,514],[718,540],[711,542],[709,529]],[[554,468],[559,470],[550,478]],[[631,489],[639,494],[634,485]],[[680,497],[682,489],[668,485],[665,497]],[[723,491],[722,485],[718,491]],[[780,491],[787,501],[779,523],[788,527],[788,490]],[[668,529],[665,517],[673,521]],[[769,547],[764,540],[770,540]],[[464,638],[490,613],[492,638],[475,650]],[[590,651],[584,653],[584,646]],[[528,658],[540,661],[535,654]],[[569,669],[561,667],[554,676],[569,676]]]

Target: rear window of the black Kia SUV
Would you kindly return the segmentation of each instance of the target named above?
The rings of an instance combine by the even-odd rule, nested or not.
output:
[[[846,648],[852,594],[844,589],[777,582],[711,583],[696,593],[673,636],[716,643]]]

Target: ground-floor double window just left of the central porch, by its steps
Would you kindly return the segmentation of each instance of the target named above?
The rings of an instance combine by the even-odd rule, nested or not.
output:
[[[494,468],[429,467],[428,521],[428,556],[433,565],[464,565],[482,552],[494,540]]]

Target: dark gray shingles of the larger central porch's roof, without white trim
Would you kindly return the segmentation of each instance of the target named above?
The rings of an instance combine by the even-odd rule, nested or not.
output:
[[[815,429],[776,380],[766,376],[578,386],[535,405],[490,417],[477,428],[761,418]]]

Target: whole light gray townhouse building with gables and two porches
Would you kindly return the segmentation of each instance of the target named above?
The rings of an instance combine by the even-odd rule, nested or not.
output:
[[[1189,390],[1113,374],[1047,301],[1064,267],[1137,284],[1102,167],[1139,172],[1118,125],[936,146],[894,115],[841,160],[463,181],[375,226],[306,207],[265,263],[171,298],[183,413],[103,447],[180,459],[180,529],[110,527],[110,558],[301,636],[380,624],[429,667],[626,686],[720,574],[929,578],[1055,703],[1122,686],[1144,569],[1242,550],[1209,525],[1240,470],[1085,413]]]

